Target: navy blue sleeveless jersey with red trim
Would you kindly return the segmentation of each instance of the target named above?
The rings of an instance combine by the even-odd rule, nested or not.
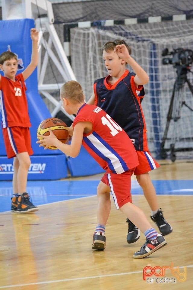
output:
[[[125,130],[136,150],[149,151],[144,114],[141,108],[144,87],[135,86],[134,76],[135,73],[125,70],[114,85],[108,83],[109,76],[97,79],[94,82],[95,105],[102,108]]]

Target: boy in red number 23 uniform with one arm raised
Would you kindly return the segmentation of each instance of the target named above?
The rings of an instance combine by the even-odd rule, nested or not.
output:
[[[2,112],[2,133],[8,158],[13,160],[13,198],[11,211],[28,213],[37,211],[26,192],[27,174],[30,167],[30,155],[33,154],[30,137],[30,118],[25,94],[25,80],[38,64],[38,31],[32,28],[31,62],[26,69],[17,74],[17,56],[11,51],[0,55],[0,106]]]

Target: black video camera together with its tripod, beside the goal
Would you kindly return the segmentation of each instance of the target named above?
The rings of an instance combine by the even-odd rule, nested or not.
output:
[[[177,48],[169,51],[167,48],[163,49],[162,56],[171,55],[171,57],[165,57],[162,60],[163,64],[172,64],[174,68],[176,68],[177,78],[174,82],[172,97],[169,105],[169,110],[167,113],[167,122],[166,127],[163,134],[163,139],[160,145],[160,156],[165,159],[167,157],[167,151],[170,151],[170,158],[172,161],[176,160],[176,152],[177,151],[193,151],[193,147],[183,147],[183,148],[175,148],[176,142],[181,141],[176,136],[176,126],[177,121],[181,118],[180,112],[182,106],[185,106],[190,111],[193,112],[193,108],[187,105],[186,101],[182,99],[184,97],[183,88],[185,83],[188,84],[188,88],[193,96],[193,85],[190,80],[187,78],[187,73],[193,72],[191,69],[191,64],[193,63],[193,51],[191,49]],[[168,138],[168,130],[170,121],[173,120],[173,130],[172,137]],[[192,137],[189,137],[192,140]],[[170,147],[165,148],[166,140],[171,140]],[[188,138],[186,138],[188,140]],[[184,142],[184,140],[183,140]]]

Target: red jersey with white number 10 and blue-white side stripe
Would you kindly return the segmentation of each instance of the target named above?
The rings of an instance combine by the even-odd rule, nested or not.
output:
[[[136,167],[136,150],[125,131],[101,108],[84,104],[73,121],[93,124],[90,134],[83,135],[82,145],[107,172],[123,173]]]

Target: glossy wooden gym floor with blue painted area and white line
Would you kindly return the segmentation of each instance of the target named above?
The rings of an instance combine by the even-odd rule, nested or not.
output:
[[[159,192],[157,196],[164,217],[173,227],[173,232],[165,237],[168,242],[166,247],[147,258],[133,259],[133,253],[145,241],[144,235],[141,233],[134,244],[126,242],[128,224],[112,200],[106,225],[106,249],[92,250],[96,186],[101,175],[69,178],[57,183],[61,184],[61,195],[65,184],[68,183],[68,188],[71,188],[71,182],[80,186],[76,182],[84,180],[85,188],[73,187],[74,191],[84,191],[83,198],[70,199],[68,192],[68,200],[42,204],[34,214],[1,210],[0,289],[192,289],[193,160],[176,160],[174,163],[162,160],[160,164],[160,168],[150,172],[150,176]],[[5,187],[11,188],[11,184],[0,183],[1,197],[10,203],[9,194],[4,195],[8,192]],[[37,183],[41,188],[41,181]],[[149,218],[150,208],[143,194],[137,194],[140,189],[134,176],[131,186],[134,187],[133,203]],[[37,199],[33,203],[41,204],[37,203]],[[154,226],[151,220],[150,223]],[[157,276],[149,274],[143,279],[143,272],[147,269],[144,267],[147,266]],[[163,266],[169,267],[164,273]],[[148,275],[149,272],[146,270],[146,273]]]

